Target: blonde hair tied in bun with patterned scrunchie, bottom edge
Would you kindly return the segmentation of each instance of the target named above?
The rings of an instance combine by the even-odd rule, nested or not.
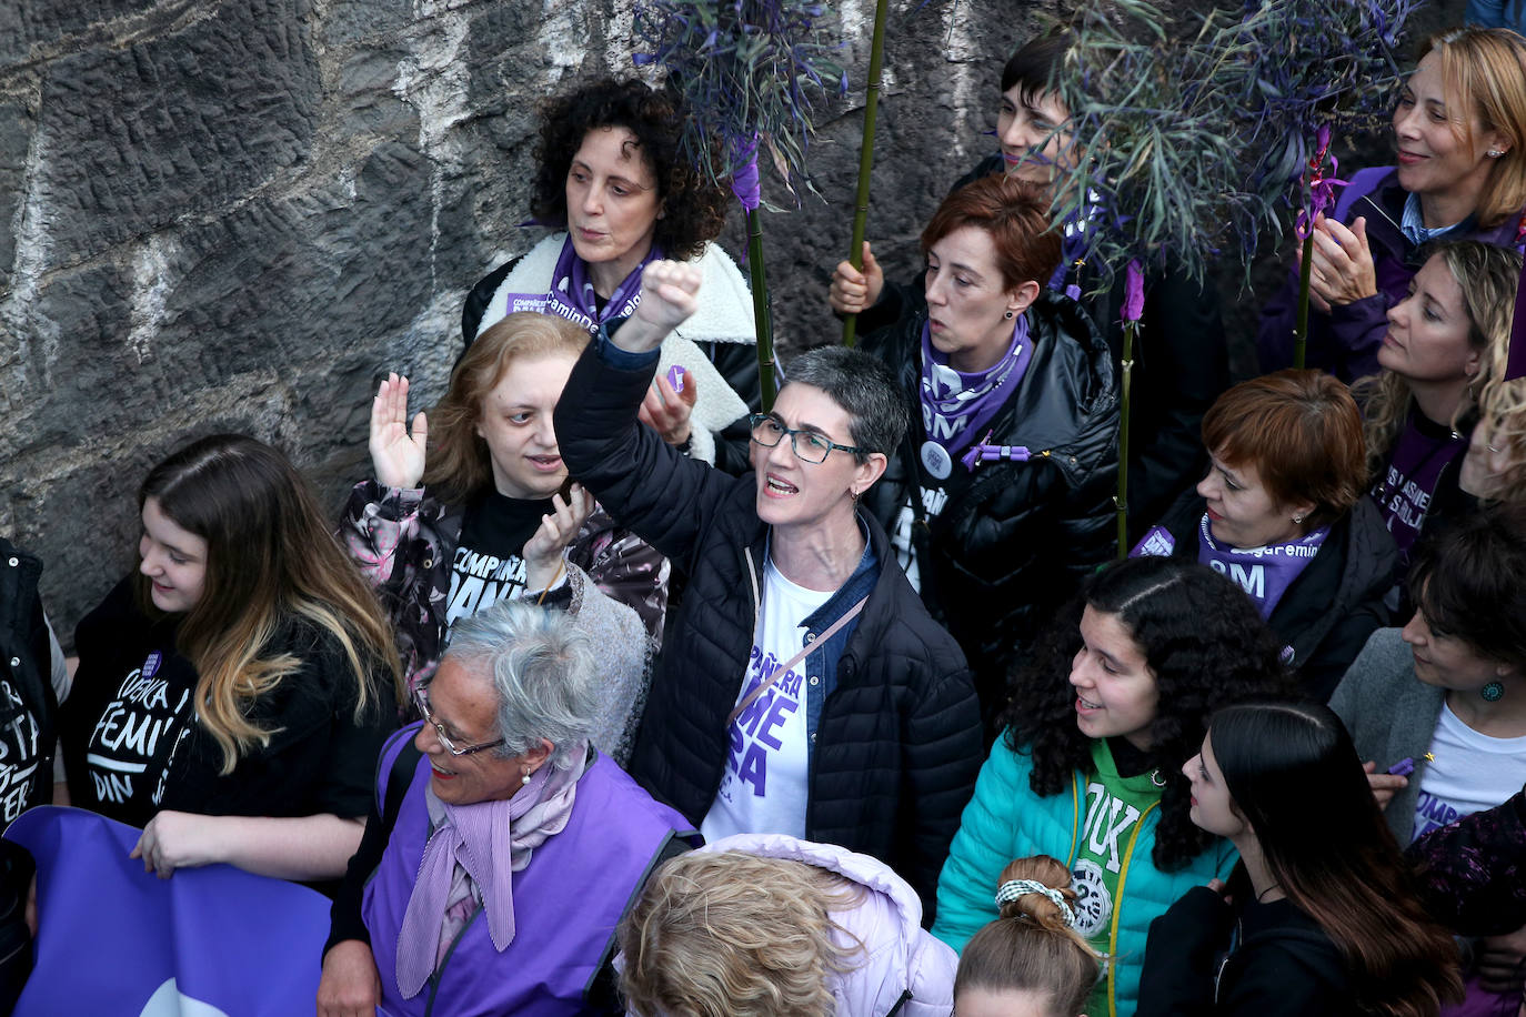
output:
[[[1015,858],[1001,871],[995,889],[1012,880],[1032,880],[1056,890],[1074,912],[1070,869],[1058,858],[1047,854]],[[960,954],[955,1008],[960,993],[978,988],[1036,993],[1048,1000],[1051,1014],[1082,1012],[1102,974],[1102,958],[1071,929],[1059,904],[1044,893],[1024,893],[1003,904],[1000,913]]]

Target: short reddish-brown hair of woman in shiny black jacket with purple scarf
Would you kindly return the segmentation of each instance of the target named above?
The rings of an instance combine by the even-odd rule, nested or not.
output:
[[[974,226],[990,235],[1003,290],[1029,281],[1047,287],[1061,259],[1061,235],[1048,212],[1050,198],[1038,184],[1006,174],[981,177],[943,198],[922,230],[922,253],[954,230]]]

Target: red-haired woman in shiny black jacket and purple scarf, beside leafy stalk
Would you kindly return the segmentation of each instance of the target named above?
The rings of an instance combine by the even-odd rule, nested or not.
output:
[[[864,338],[922,410],[870,508],[964,648],[992,738],[1024,646],[1116,549],[1112,358],[1047,288],[1048,207],[1016,177],[951,194],[922,232],[925,302]]]

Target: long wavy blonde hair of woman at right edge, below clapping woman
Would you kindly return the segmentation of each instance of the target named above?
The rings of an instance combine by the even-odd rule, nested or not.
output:
[[[1505,355],[1511,342],[1511,319],[1515,288],[1520,284],[1521,256],[1506,247],[1479,241],[1441,244],[1430,258],[1441,258],[1462,288],[1462,305],[1468,314],[1468,345],[1482,351],[1479,374],[1453,413],[1453,430],[1466,430],[1463,421],[1477,406],[1476,396],[1503,377]],[[1427,259],[1428,261],[1428,259]],[[1415,396],[1410,383],[1392,371],[1361,378],[1352,393],[1363,407],[1363,436],[1367,442],[1367,480],[1383,477],[1393,442],[1398,441],[1410,416]]]

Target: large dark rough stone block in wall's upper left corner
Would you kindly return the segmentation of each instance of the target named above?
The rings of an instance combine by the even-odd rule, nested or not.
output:
[[[217,8],[128,49],[52,64],[41,124],[55,258],[220,209],[307,157],[317,59],[291,0]]]

